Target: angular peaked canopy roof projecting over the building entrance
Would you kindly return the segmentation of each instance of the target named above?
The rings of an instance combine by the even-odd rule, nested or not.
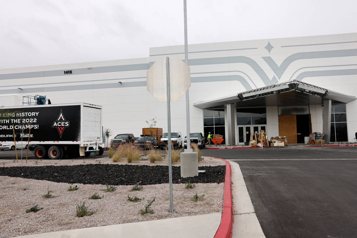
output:
[[[235,104],[236,107],[298,106],[322,104],[323,100],[349,103],[356,100],[356,97],[292,80],[209,101],[196,102],[193,106],[201,109],[225,107],[227,104]]]

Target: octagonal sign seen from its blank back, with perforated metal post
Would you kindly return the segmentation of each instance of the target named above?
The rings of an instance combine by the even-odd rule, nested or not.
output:
[[[172,142],[170,101],[179,100],[191,86],[190,67],[176,56],[158,59],[146,72],[147,91],[167,107],[167,146],[169,147],[170,213],[174,212],[172,196]],[[165,90],[166,89],[166,90]],[[166,93],[165,93],[166,92]]]

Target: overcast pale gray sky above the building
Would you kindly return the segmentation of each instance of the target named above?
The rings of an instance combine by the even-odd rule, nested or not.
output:
[[[356,32],[356,15],[356,0],[187,0],[188,44]],[[183,43],[183,0],[0,0],[0,68]]]

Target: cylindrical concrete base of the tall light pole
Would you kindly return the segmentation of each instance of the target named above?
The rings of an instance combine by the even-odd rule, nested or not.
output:
[[[198,154],[197,152],[183,152],[181,156],[181,177],[198,176]]]

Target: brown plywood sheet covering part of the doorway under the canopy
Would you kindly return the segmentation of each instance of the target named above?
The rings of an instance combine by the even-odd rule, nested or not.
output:
[[[289,144],[296,144],[296,135],[296,115],[279,115],[279,136],[286,136]]]

